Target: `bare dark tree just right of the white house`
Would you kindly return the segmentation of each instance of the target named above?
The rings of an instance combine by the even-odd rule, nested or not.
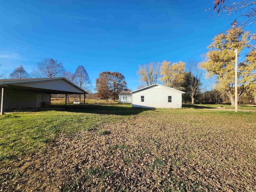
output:
[[[202,70],[198,68],[198,63],[188,62],[188,72],[186,72],[186,88],[191,97],[191,104],[195,104],[194,99],[200,92]]]

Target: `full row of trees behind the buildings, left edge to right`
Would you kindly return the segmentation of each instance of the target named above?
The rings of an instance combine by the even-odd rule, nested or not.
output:
[[[215,78],[212,85],[214,90],[225,94],[234,106],[234,50],[238,49],[238,101],[242,96],[250,95],[256,90],[256,35],[232,26],[225,33],[216,35],[208,46],[209,51],[203,55],[201,62],[188,61],[162,63],[150,62],[139,65],[137,74],[143,84],[142,88],[160,81],[164,86],[186,92],[184,101],[191,99],[192,104],[199,96],[202,86],[203,72],[206,77]],[[0,73],[0,77],[4,74]],[[83,66],[78,66],[76,72],[66,72],[61,62],[47,58],[38,62],[37,68],[32,72],[33,77],[56,77],[64,76],[79,87],[88,90],[91,86],[90,78]],[[16,68],[10,78],[30,78],[31,76],[22,66]],[[118,93],[128,90],[125,78],[120,72],[101,72],[96,78],[97,97],[102,99],[118,98]]]

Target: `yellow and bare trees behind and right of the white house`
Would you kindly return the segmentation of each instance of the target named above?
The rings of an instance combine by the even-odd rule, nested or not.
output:
[[[216,35],[208,46],[209,51],[203,55],[201,62],[163,61],[161,64],[150,63],[139,66],[137,71],[140,82],[148,85],[155,84],[160,80],[163,85],[190,94],[192,104],[194,98],[200,92],[202,85],[202,72],[206,77],[216,79],[213,85],[220,94],[226,94],[234,106],[235,85],[235,53],[244,60],[238,62],[238,101],[246,94],[252,94],[256,90],[256,35],[232,26],[226,33]],[[142,86],[140,86],[141,88]]]

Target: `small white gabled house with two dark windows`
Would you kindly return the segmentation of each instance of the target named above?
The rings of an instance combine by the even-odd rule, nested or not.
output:
[[[154,84],[131,93],[132,107],[181,108],[182,93],[185,92]]]

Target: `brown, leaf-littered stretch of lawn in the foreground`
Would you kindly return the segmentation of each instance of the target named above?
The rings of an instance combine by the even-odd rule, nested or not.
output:
[[[255,191],[251,114],[157,110],[5,160],[3,191]],[[102,134],[104,133],[104,134]]]

